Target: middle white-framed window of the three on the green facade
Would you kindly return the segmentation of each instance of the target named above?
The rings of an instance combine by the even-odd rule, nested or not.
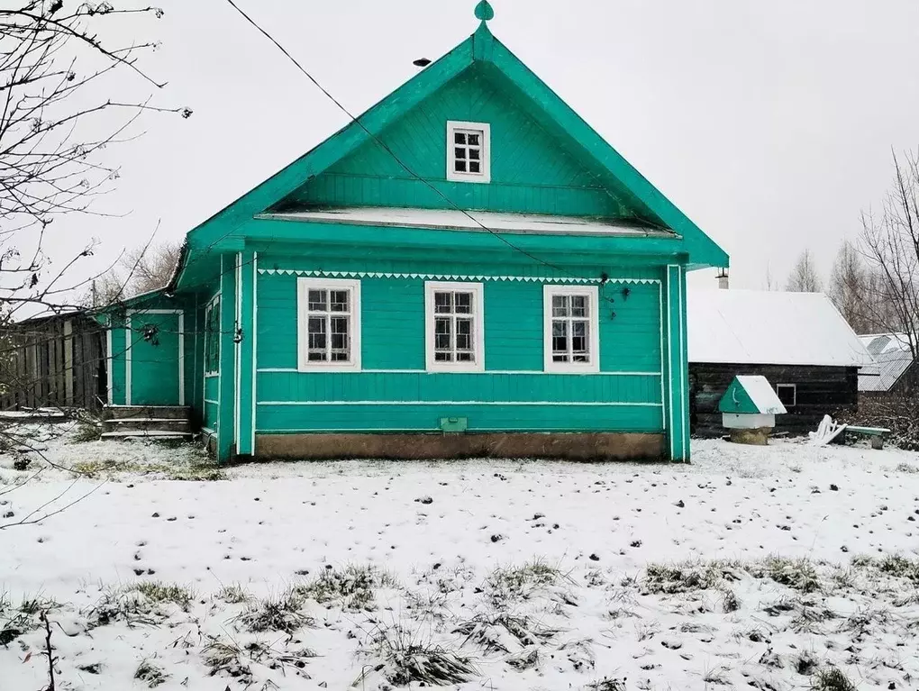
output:
[[[485,368],[481,283],[425,283],[425,363],[429,371]]]

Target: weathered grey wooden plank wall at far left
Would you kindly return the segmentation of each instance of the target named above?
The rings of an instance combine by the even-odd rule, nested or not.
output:
[[[97,410],[107,397],[105,327],[80,317],[14,324],[0,335],[0,409]]]

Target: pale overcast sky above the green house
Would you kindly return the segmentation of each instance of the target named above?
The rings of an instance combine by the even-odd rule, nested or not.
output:
[[[475,0],[237,1],[357,112],[477,25]],[[733,287],[784,282],[807,247],[828,273],[891,147],[919,147],[917,0],[492,1],[494,34],[728,251]],[[160,4],[120,40],[162,41],[155,99],[194,115],[107,153],[121,178],[97,208],[128,216],[55,224],[59,260],[102,242],[86,274],[157,221],[180,240],[345,123],[225,0]]]

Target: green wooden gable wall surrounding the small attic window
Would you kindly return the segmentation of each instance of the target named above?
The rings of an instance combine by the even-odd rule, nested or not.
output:
[[[575,216],[635,215],[599,165],[578,153],[570,137],[552,134],[516,87],[473,67],[413,108],[380,140],[417,176],[464,209]],[[447,122],[491,126],[488,185],[448,182]],[[310,206],[391,206],[449,209],[441,194],[405,170],[378,142],[360,146],[301,187],[286,203]]]

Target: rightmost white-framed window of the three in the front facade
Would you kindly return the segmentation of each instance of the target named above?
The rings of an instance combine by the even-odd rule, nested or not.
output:
[[[545,370],[600,371],[596,286],[545,286],[543,312]]]

